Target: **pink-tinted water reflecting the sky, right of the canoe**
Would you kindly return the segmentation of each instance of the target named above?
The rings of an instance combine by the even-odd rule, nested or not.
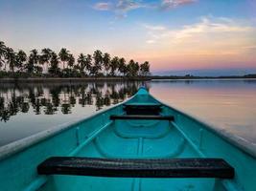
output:
[[[256,144],[256,80],[154,81],[151,94]]]

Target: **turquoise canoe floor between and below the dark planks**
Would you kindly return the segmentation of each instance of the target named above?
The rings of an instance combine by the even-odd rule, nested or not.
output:
[[[198,153],[165,120],[116,120],[84,146],[76,157],[106,159],[199,158]],[[40,188],[48,190],[224,190],[217,179],[132,179],[54,175]]]

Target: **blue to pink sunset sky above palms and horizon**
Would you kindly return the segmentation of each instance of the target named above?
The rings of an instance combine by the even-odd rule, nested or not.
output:
[[[256,73],[256,0],[0,0],[14,50],[96,49],[153,74]]]

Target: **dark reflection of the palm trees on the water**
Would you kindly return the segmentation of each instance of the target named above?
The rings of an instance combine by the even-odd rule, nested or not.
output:
[[[0,88],[0,120],[7,122],[19,113],[67,115],[76,105],[95,105],[96,111],[132,96],[143,82],[74,83],[74,84],[7,84]],[[147,85],[146,85],[147,86]]]

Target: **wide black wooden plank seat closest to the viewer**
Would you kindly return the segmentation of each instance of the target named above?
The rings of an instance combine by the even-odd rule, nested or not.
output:
[[[235,170],[223,159],[98,159],[55,157],[37,167],[40,175],[123,178],[233,179]]]

